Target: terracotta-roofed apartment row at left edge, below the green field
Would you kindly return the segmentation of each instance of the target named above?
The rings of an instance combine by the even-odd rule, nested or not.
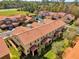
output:
[[[24,22],[28,22],[32,19],[30,16],[15,15],[15,16],[0,16],[0,28],[2,30],[12,30],[13,28],[22,25]],[[28,20],[28,21],[27,21]]]

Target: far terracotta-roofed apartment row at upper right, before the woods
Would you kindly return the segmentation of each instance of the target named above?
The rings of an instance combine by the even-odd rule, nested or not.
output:
[[[47,13],[48,13],[48,15],[47,15]],[[75,20],[75,16],[72,14],[67,14],[64,12],[47,12],[47,13],[44,12],[46,19],[53,19],[53,20],[60,19],[67,24],[69,24],[71,21]],[[43,11],[41,14],[43,14]]]

